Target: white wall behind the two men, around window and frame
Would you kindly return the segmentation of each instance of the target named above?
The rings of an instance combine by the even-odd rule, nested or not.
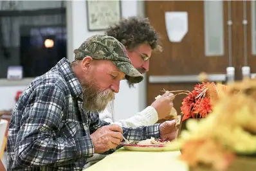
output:
[[[67,26],[68,26],[68,58],[73,60],[73,49],[95,34],[102,34],[103,31],[88,31],[86,2],[66,1],[67,3]],[[143,15],[143,1],[122,1],[122,17],[132,15]],[[0,85],[0,111],[9,110],[14,107],[15,93],[23,90],[27,84],[21,86],[1,86]],[[138,111],[142,111],[146,105],[146,80],[136,84],[129,89],[125,80],[120,84],[120,93],[115,99],[116,120],[129,118]]]

